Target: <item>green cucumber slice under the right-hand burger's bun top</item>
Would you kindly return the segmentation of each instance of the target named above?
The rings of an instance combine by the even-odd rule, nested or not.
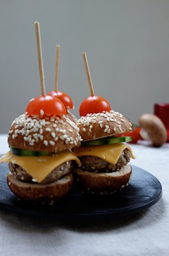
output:
[[[108,145],[114,143],[121,143],[121,142],[128,142],[131,141],[132,138],[129,136],[115,136],[112,138],[101,138],[99,140],[89,140],[82,142],[82,145],[89,146],[89,145]]]

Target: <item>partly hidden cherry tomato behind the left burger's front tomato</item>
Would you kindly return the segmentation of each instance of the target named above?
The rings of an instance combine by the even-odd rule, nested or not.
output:
[[[64,104],[65,108],[67,108],[67,109],[72,109],[74,107],[71,97],[64,92],[53,91],[53,92],[48,93],[48,95],[54,96],[57,99],[61,100],[61,102]]]

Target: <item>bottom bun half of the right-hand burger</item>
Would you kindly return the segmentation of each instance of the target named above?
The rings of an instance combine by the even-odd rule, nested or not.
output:
[[[87,172],[82,168],[77,168],[74,173],[82,191],[103,195],[114,193],[127,186],[132,174],[132,168],[128,164],[119,171],[111,173]]]

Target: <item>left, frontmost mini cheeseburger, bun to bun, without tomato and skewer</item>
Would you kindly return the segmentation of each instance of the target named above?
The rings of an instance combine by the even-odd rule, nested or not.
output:
[[[52,204],[73,185],[71,148],[80,145],[79,129],[66,116],[21,115],[8,133],[10,151],[0,159],[9,163],[7,182],[20,199]]]

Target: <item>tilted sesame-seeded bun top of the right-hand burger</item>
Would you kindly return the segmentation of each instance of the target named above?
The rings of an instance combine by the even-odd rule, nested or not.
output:
[[[132,130],[129,121],[114,110],[82,116],[76,124],[84,141],[115,136]]]

